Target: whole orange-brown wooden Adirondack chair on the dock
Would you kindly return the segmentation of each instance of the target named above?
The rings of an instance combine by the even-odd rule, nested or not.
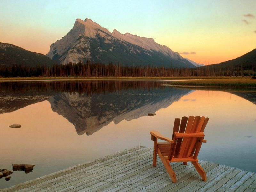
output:
[[[158,131],[150,131],[151,140],[154,141],[153,166],[156,166],[156,154],[162,160],[164,167],[169,173],[172,182],[176,183],[176,176],[169,163],[183,162],[187,165],[188,161],[196,168],[196,171],[206,181],[206,174],[198,163],[197,155],[204,140],[204,129],[209,118],[200,116],[182,117],[174,120],[172,139],[164,137]],[[157,139],[166,142],[158,143]]]

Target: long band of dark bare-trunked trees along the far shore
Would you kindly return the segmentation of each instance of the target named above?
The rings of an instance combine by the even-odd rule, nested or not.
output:
[[[120,64],[69,63],[53,66],[0,66],[1,77],[189,77],[189,76],[251,76],[256,68],[165,68],[164,66],[122,66]]]

